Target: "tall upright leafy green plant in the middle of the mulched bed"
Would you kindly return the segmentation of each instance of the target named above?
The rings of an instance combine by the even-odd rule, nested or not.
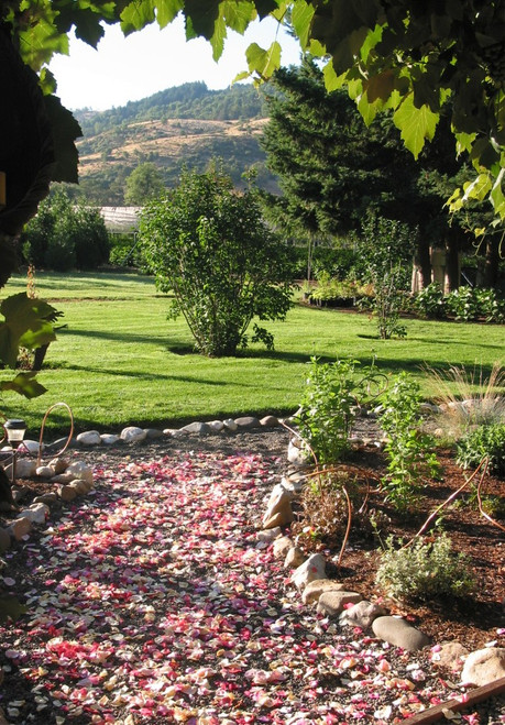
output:
[[[382,485],[398,510],[415,507],[424,475],[438,475],[433,439],[420,430],[419,386],[406,373],[394,378],[382,399],[380,425],[387,436],[387,473]]]

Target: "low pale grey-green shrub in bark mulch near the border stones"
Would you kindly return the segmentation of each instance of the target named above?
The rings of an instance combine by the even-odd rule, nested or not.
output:
[[[416,539],[396,549],[388,537],[381,552],[376,583],[389,596],[406,601],[429,601],[443,596],[463,597],[475,587],[468,557],[454,553],[447,534],[435,540]]]

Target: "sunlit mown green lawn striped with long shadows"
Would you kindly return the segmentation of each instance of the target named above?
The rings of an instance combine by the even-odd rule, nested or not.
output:
[[[413,374],[429,398],[436,385],[424,365],[477,364],[488,374],[503,354],[503,326],[408,319],[406,339],[380,340],[366,315],[296,306],[285,322],[267,323],[275,334],[274,352],[255,345],[238,358],[207,359],[189,352],[191,337],[183,319],[166,320],[167,299],[152,278],[37,273],[35,288],[64,312],[66,327],[39,374],[47,393],[32,400],[3,396],[4,415],[24,418],[30,438],[37,437],[45,410],[59,400],[70,406],[77,432],[285,415],[298,406],[311,355],[363,364],[375,356],[383,372]],[[14,276],[2,298],[24,289],[25,277]],[[48,435],[64,432],[67,420],[64,408],[56,408]]]

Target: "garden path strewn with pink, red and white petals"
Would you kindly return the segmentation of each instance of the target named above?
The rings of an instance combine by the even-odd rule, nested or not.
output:
[[[29,612],[1,630],[9,722],[382,725],[454,696],[426,657],[301,604],[256,538],[273,463],[96,469],[86,499],[9,554],[30,572]]]

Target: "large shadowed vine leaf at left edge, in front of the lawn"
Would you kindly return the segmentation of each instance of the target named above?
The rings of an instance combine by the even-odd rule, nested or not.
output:
[[[51,319],[56,309],[42,299],[32,299],[26,293],[7,297],[0,305],[4,320],[0,322],[0,360],[15,366],[20,345],[30,350],[56,339]]]

